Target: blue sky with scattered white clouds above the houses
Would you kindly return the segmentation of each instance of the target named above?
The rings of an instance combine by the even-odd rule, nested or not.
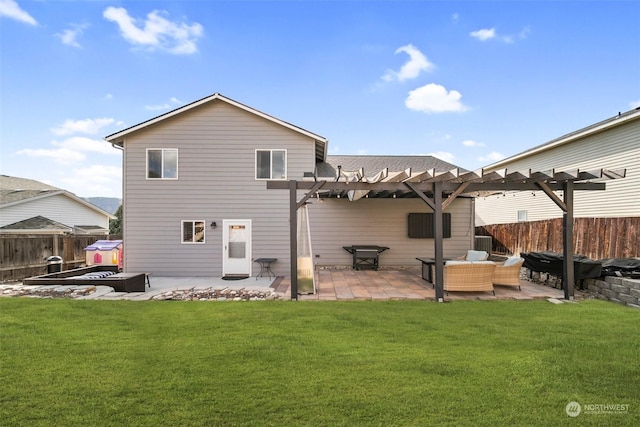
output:
[[[0,0],[2,174],[121,196],[106,135],[215,92],[478,169],[640,106],[640,1]]]

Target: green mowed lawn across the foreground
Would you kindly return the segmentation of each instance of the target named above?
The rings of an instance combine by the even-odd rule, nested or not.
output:
[[[0,361],[2,426],[640,425],[640,311],[595,300],[0,298]]]

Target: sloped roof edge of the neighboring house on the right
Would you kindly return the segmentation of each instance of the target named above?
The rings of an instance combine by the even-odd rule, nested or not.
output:
[[[613,127],[616,126],[620,126],[624,123],[629,123],[633,120],[637,120],[640,119],[640,107],[635,108],[633,110],[627,111],[625,113],[618,113],[618,115],[613,116],[609,119],[603,120],[601,122],[595,123],[591,126],[587,126],[585,128],[579,129],[575,132],[571,132],[568,133],[566,135],[563,135],[559,138],[553,139],[549,142],[546,142],[544,144],[535,146],[533,148],[530,148],[529,150],[523,151],[521,153],[515,154],[511,157],[507,157],[506,159],[502,159],[498,162],[495,162],[493,164],[490,164],[489,166],[486,166],[484,169],[486,170],[494,170],[496,168],[501,168],[501,167],[505,167],[506,165],[508,165],[511,162],[514,162],[516,160],[521,160],[523,158],[526,157],[530,157],[533,156],[535,154],[544,152],[544,151],[548,151],[551,150],[553,148],[556,148],[558,146],[561,145],[565,145],[568,143],[571,143],[573,141],[576,141],[578,139],[581,138],[585,138],[587,136],[596,134],[598,132],[602,132],[604,130],[607,129],[611,129]]]

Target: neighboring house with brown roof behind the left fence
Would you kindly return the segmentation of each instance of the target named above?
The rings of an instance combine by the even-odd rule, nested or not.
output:
[[[108,234],[112,218],[68,191],[0,175],[2,234]]]

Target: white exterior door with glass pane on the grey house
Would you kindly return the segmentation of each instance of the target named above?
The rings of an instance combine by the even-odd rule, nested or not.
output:
[[[222,220],[222,274],[251,276],[251,220]]]

